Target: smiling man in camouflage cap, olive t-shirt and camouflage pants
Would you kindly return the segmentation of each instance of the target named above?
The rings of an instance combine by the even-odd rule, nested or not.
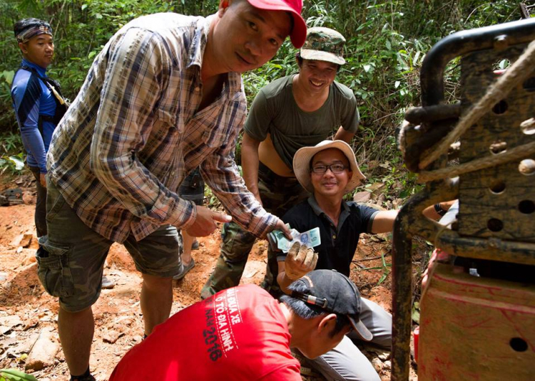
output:
[[[350,142],[357,131],[355,95],[335,81],[345,63],[344,44],[337,31],[309,28],[296,57],[299,73],[265,86],[251,105],[241,146],[243,178],[263,207],[277,216],[307,197],[292,171],[295,152],[335,131],[336,140]],[[225,224],[222,236],[220,258],[203,298],[238,285],[255,242],[255,236],[233,222]],[[267,278],[276,268],[270,270]]]

